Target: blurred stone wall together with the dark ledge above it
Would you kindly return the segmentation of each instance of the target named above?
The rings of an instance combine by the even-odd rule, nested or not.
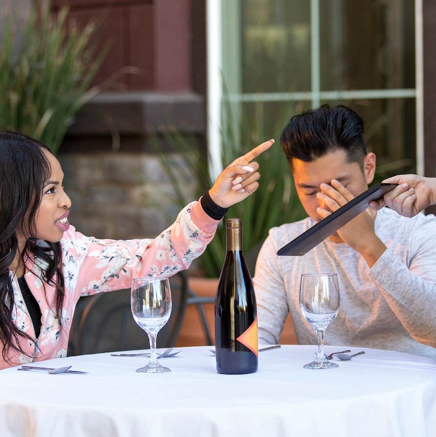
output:
[[[107,92],[93,98],[75,116],[58,155],[73,204],[71,223],[99,238],[148,238],[163,231],[180,207],[156,147],[179,168],[183,146],[162,132],[180,132],[205,147],[205,118],[204,98],[195,93]],[[194,177],[178,182],[186,203],[195,200]]]

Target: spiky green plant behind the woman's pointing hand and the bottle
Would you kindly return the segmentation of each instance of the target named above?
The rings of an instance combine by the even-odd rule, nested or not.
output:
[[[227,110],[226,113],[231,120],[230,111]],[[237,132],[234,131],[232,123],[223,123],[223,125],[225,126],[222,130],[223,168],[256,145],[270,138],[275,139],[274,145],[256,160],[260,164],[261,173],[259,188],[244,201],[233,205],[225,216],[225,218],[242,219],[244,252],[246,257],[250,258],[252,255],[255,257],[271,227],[306,217],[295,193],[292,175],[280,147],[279,138],[285,122],[279,123],[277,128],[266,136],[259,135],[259,131],[256,134],[255,121],[250,124],[241,123]],[[240,137],[241,141],[235,141],[236,137]],[[161,152],[161,139],[154,137],[152,140],[171,181],[174,197],[170,202],[182,208],[192,200],[192,197],[189,197],[192,194],[187,193],[186,190],[186,184],[192,179],[195,180],[197,198],[212,186],[213,181],[208,172],[204,147],[193,136],[176,131],[167,131],[163,134],[164,142],[182,156],[179,162],[175,162],[170,154]],[[157,202],[154,202],[154,205],[157,205]],[[226,232],[224,225],[221,224],[206,251],[199,258],[200,266],[207,276],[219,276],[225,253]],[[251,273],[254,274],[254,271]]]

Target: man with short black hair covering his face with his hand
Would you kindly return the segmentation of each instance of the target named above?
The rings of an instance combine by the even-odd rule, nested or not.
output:
[[[436,218],[368,208],[304,256],[278,257],[287,242],[363,193],[375,172],[363,120],[345,106],[293,117],[281,143],[309,217],[271,229],[257,258],[260,343],[278,342],[290,312],[298,343],[315,344],[315,331],[300,311],[301,274],[337,272],[341,309],[327,344],[436,358]]]

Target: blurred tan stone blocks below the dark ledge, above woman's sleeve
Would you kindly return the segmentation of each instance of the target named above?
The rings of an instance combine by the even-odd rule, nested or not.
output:
[[[169,154],[174,165],[181,155]],[[152,153],[60,154],[65,191],[72,201],[70,222],[85,235],[130,239],[158,235],[179,213],[172,184]],[[196,200],[195,182],[179,181]],[[157,205],[154,205],[157,204]]]

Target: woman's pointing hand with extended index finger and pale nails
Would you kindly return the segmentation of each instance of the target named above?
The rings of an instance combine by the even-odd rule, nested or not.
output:
[[[218,206],[228,208],[254,193],[259,187],[257,180],[261,175],[257,171],[259,164],[252,160],[269,149],[272,144],[274,140],[266,141],[228,165],[210,188],[210,198]]]

